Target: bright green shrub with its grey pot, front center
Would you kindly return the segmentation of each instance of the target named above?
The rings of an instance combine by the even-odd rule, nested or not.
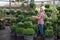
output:
[[[32,28],[24,29],[24,31],[23,31],[23,34],[25,35],[24,39],[33,40],[34,33],[35,33],[35,31]]]

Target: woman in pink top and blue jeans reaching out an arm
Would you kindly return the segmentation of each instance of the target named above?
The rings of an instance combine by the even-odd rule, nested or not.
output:
[[[38,25],[39,25],[39,30],[41,33],[41,40],[44,40],[43,36],[44,36],[44,10],[42,7],[40,7],[40,13],[38,16],[32,16],[32,18],[36,18],[38,19]]]

